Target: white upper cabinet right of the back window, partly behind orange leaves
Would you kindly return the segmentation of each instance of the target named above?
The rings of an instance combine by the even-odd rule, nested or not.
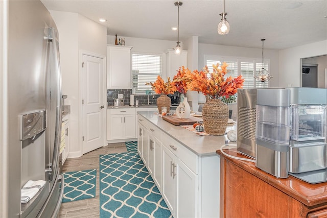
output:
[[[174,50],[168,50],[166,52],[166,63],[167,63],[167,77],[173,80],[174,76],[177,74],[179,67],[187,67],[188,64],[188,51],[183,51],[176,55]]]

